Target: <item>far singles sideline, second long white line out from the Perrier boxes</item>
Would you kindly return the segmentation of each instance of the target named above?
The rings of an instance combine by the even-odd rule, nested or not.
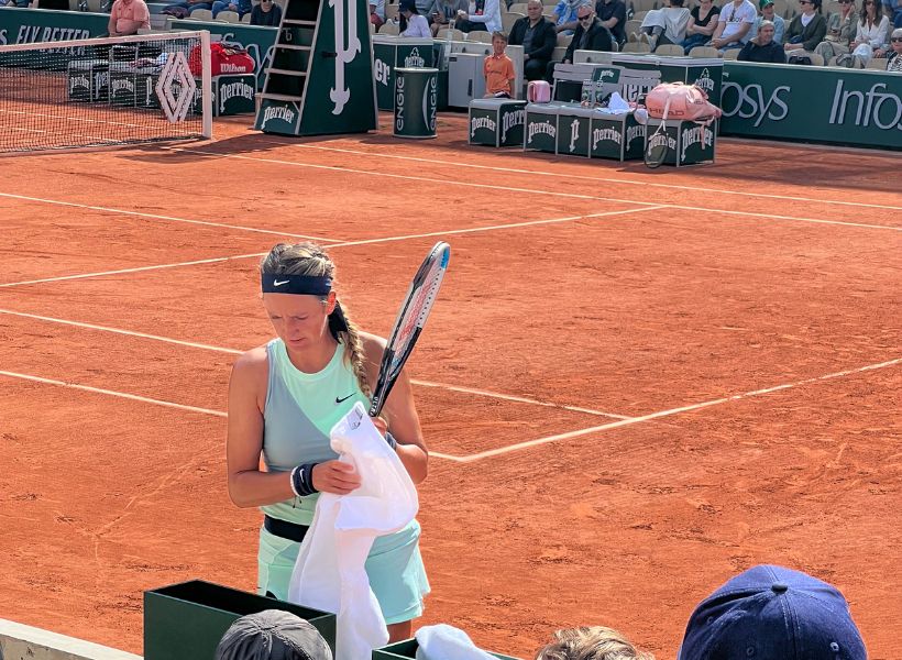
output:
[[[455,182],[450,179],[438,179],[432,177],[425,177],[425,176],[414,176],[410,174],[394,174],[388,172],[373,172],[370,169],[355,169],[353,167],[339,167],[334,165],[316,165],[312,163],[298,163],[296,161],[282,161],[279,158],[257,158],[254,156],[243,156],[238,154],[218,154],[218,153],[210,153],[204,152],[196,148],[185,148],[178,146],[164,146],[161,148],[169,150],[169,151],[177,151],[177,152],[187,152],[193,154],[200,154],[205,156],[210,156],[213,158],[237,158],[241,161],[258,161],[261,163],[272,163],[275,165],[289,165],[293,167],[307,167],[310,169],[327,169],[330,172],[340,172],[344,174],[367,174],[371,176],[381,176],[387,178],[399,178],[410,182],[421,182],[427,184],[440,184],[442,186],[463,186],[470,188],[486,188],[490,190],[504,190],[505,193],[526,193],[529,195],[548,195],[552,197],[566,197],[571,199],[591,199],[593,201],[609,201],[616,204],[632,204],[638,206],[654,206],[656,208],[673,208],[680,210],[692,210],[692,211],[703,211],[706,213],[728,213],[728,215],[738,215],[738,216],[748,216],[749,218],[763,218],[766,220],[790,220],[793,222],[813,222],[816,224],[837,224],[840,227],[857,227],[864,229],[882,229],[887,231],[899,231],[902,232],[902,227],[891,227],[886,224],[867,224],[861,222],[844,222],[842,220],[827,220],[824,218],[800,218],[795,216],[773,216],[771,213],[757,213],[754,211],[733,211],[733,210],[725,210],[725,209],[710,209],[703,207],[692,207],[692,206],[682,206],[682,205],[672,205],[672,204],[656,204],[651,201],[640,201],[638,199],[622,199],[617,197],[600,197],[595,195],[581,195],[578,193],[558,193],[556,190],[539,190],[535,188],[514,188],[510,186],[498,186],[494,184],[476,184],[473,182]],[[811,200],[809,200],[811,201]],[[894,207],[893,207],[894,208]]]

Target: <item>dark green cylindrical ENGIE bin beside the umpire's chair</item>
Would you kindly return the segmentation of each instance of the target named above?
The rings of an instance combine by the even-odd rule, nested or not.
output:
[[[439,69],[395,69],[395,138],[436,136]]]

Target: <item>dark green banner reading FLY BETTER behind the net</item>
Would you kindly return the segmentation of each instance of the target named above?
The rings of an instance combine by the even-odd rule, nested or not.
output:
[[[109,14],[3,8],[0,46],[106,36]]]

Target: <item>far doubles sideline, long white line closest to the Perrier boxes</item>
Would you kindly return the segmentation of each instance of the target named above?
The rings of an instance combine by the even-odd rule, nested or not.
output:
[[[642,182],[642,180],[634,180],[634,179],[619,179],[619,178],[610,178],[610,177],[603,177],[603,176],[586,176],[586,175],[578,175],[578,174],[569,174],[569,173],[561,173],[561,172],[547,172],[542,169],[517,169],[514,167],[497,167],[494,165],[476,165],[474,163],[466,163],[462,161],[440,161],[438,158],[418,158],[416,156],[400,156],[396,154],[385,154],[385,153],[374,153],[367,151],[358,151],[351,148],[338,148],[334,146],[320,146],[317,144],[298,144],[296,142],[280,142],[277,140],[268,140],[262,142],[270,142],[272,144],[280,144],[283,146],[297,146],[300,148],[315,148],[320,151],[329,151],[329,152],[338,152],[338,153],[345,153],[345,154],[353,154],[353,155],[366,155],[373,156],[377,158],[396,158],[399,161],[411,161],[416,163],[430,163],[436,165],[450,165],[453,167],[470,167],[472,169],[490,169],[493,172],[504,172],[504,173],[515,173],[515,174],[529,174],[529,175],[540,175],[540,176],[553,176],[566,179],[578,179],[578,180],[587,180],[587,182],[600,182],[605,184],[624,184],[629,186],[642,186],[642,187],[654,187],[654,188],[668,188],[674,190],[685,190],[686,186],[680,186],[675,184],[659,184],[654,182]],[[862,201],[843,201],[839,199],[812,199],[809,197],[796,197],[793,195],[769,195],[767,193],[746,193],[743,190],[722,190],[719,188],[700,188],[697,186],[692,186],[693,190],[698,193],[717,193],[722,195],[739,195],[743,197],[761,197],[765,199],[782,199],[789,201],[811,201],[811,202],[821,202],[821,204],[831,204],[831,205],[838,205],[838,206],[851,206],[851,207],[865,207],[865,208],[873,208],[873,209],[890,209],[894,211],[902,211],[902,206],[890,206],[890,205],[882,205],[882,204],[867,204]]]

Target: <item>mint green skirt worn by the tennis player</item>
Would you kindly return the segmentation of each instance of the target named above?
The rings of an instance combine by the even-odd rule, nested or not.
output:
[[[419,549],[420,525],[413,520],[396,534],[377,537],[364,568],[386,624],[399,624],[422,614],[429,581]],[[287,600],[288,584],[300,543],[274,536],[261,527],[257,591]]]

